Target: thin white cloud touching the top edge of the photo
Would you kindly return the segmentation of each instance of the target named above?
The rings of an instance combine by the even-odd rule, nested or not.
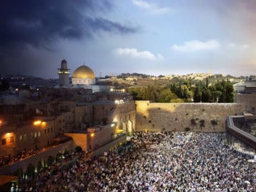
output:
[[[132,0],[132,3],[135,6],[150,11],[151,14],[166,14],[171,11],[168,7],[159,7],[156,4],[149,4],[148,2],[142,0]]]

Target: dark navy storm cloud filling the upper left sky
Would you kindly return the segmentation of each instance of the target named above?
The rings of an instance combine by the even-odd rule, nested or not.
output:
[[[109,1],[6,0],[0,2],[2,48],[47,48],[58,38],[92,38],[97,31],[134,33],[136,28],[97,14],[111,11]]]

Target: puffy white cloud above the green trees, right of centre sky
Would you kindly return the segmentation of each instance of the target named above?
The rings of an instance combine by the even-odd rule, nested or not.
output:
[[[220,48],[220,43],[214,39],[209,41],[186,41],[181,46],[177,46],[174,44],[171,46],[173,50],[181,51],[181,52],[190,52],[190,51],[198,51],[198,50],[215,50]]]

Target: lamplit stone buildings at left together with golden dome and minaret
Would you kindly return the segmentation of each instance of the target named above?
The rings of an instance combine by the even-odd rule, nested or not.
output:
[[[50,156],[56,155],[53,149],[64,153],[80,145],[92,150],[134,132],[136,106],[131,95],[95,85],[95,75],[85,65],[75,70],[71,85],[65,60],[58,74],[60,85],[53,88],[0,95],[1,174],[17,169],[26,173],[31,163],[48,166]],[[61,145],[70,140],[72,144]],[[17,166],[21,160],[23,165]]]

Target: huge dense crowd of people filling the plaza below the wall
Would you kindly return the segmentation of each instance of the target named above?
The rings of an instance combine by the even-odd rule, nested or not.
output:
[[[256,191],[253,157],[223,133],[138,132],[107,156],[38,174],[19,191]]]

